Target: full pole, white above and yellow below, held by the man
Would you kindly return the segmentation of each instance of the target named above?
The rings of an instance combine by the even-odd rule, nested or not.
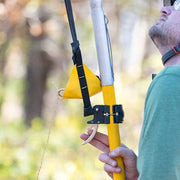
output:
[[[90,0],[91,16],[93,22],[98,64],[103,91],[104,104],[110,106],[112,114],[112,105],[116,104],[113,68],[111,64],[110,50],[108,42],[107,26],[105,15],[102,7],[102,0]],[[110,115],[110,124],[107,125],[110,150],[112,151],[121,146],[119,125],[114,123],[113,116]],[[116,159],[118,166],[122,169],[120,173],[114,173],[114,180],[125,180],[125,172],[122,158]]]

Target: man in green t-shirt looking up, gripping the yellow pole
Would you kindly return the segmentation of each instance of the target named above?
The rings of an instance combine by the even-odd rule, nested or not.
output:
[[[99,160],[110,177],[121,171],[113,159],[121,156],[126,180],[180,180],[180,0],[161,9],[149,35],[163,56],[165,68],[147,92],[138,158],[124,145],[110,152],[108,137],[101,133],[90,144],[104,152]],[[88,130],[81,138],[85,140],[91,133]]]

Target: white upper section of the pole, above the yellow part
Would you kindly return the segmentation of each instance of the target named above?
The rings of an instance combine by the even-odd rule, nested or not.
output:
[[[102,0],[90,0],[97,57],[102,86],[113,85],[114,78],[108,49]]]

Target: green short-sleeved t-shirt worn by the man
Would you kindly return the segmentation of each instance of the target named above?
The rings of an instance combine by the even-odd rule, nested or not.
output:
[[[180,66],[168,66],[146,96],[138,180],[180,180]]]

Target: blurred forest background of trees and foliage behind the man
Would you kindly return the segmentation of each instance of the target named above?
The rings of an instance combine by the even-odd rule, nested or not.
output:
[[[104,0],[114,58],[122,142],[136,153],[151,74],[163,66],[148,37],[161,0]],[[88,0],[72,0],[84,63],[98,64]],[[0,0],[0,179],[108,180],[98,150],[81,146],[81,100],[61,100],[71,69],[71,36],[63,0]],[[102,103],[102,94],[92,104]],[[91,117],[92,118],[92,117]],[[107,133],[106,126],[99,131]],[[50,132],[50,133],[49,133]],[[49,135],[50,134],[50,135]],[[49,142],[47,144],[47,139]],[[43,152],[47,144],[47,150]]]

